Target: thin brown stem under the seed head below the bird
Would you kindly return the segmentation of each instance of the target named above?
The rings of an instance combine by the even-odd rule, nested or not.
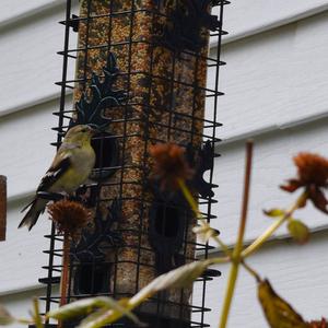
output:
[[[67,304],[69,262],[70,262],[70,235],[68,232],[65,232],[63,242],[62,242],[62,270],[61,270],[61,280],[60,280],[60,303],[59,303],[60,306]],[[62,328],[61,321],[58,321],[58,328]]]

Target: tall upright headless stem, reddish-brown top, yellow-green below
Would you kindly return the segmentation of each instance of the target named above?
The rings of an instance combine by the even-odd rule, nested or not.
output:
[[[231,308],[231,303],[236,285],[236,280],[239,270],[241,263],[241,254],[243,250],[243,241],[247,221],[247,210],[248,210],[248,200],[249,200],[249,187],[250,187],[250,173],[251,173],[251,159],[253,159],[253,142],[248,141],[246,143],[246,167],[245,167],[245,181],[244,181],[244,196],[242,204],[242,216],[241,225],[238,231],[238,236],[236,245],[233,251],[232,266],[230,269],[229,283],[225,292],[225,298],[222,307],[221,321],[219,327],[225,328],[227,323],[227,317]]]

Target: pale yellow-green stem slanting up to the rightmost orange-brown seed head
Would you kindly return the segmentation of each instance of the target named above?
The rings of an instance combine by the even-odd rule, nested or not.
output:
[[[273,224],[271,224],[258,238],[256,238],[256,241],[254,241],[243,253],[242,253],[242,257],[246,258],[249,255],[254,254],[255,251],[257,251],[263,243],[266,243],[271,236],[272,234],[277,231],[277,229],[284,223],[286,220],[289,220],[293,213],[295,212],[295,210],[297,210],[300,208],[300,204],[304,203],[304,200],[307,198],[307,194],[303,192],[300,198],[296,200],[296,202],[284,212],[284,214],[277,220]]]

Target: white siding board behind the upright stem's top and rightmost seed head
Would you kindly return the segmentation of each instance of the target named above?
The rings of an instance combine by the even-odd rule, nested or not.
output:
[[[327,126],[328,118],[307,124],[306,127],[279,130],[255,138],[246,239],[254,239],[272,222],[262,214],[262,209],[286,208],[298,195],[279,189],[279,185],[285,179],[296,175],[292,157],[300,151],[320,153],[328,157]],[[245,145],[244,142],[230,143],[219,147],[219,151],[222,156],[215,160],[214,178],[214,183],[219,185],[215,189],[218,203],[213,207],[213,212],[219,218],[212,225],[221,230],[224,241],[233,244],[241,212]],[[304,219],[313,230],[328,226],[327,215],[314,210],[312,204],[295,215]],[[285,233],[285,229],[280,229],[277,236]]]

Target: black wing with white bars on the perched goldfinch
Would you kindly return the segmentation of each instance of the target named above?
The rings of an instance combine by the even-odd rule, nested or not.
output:
[[[71,153],[59,150],[49,169],[46,172],[37,191],[47,191],[71,166]]]

